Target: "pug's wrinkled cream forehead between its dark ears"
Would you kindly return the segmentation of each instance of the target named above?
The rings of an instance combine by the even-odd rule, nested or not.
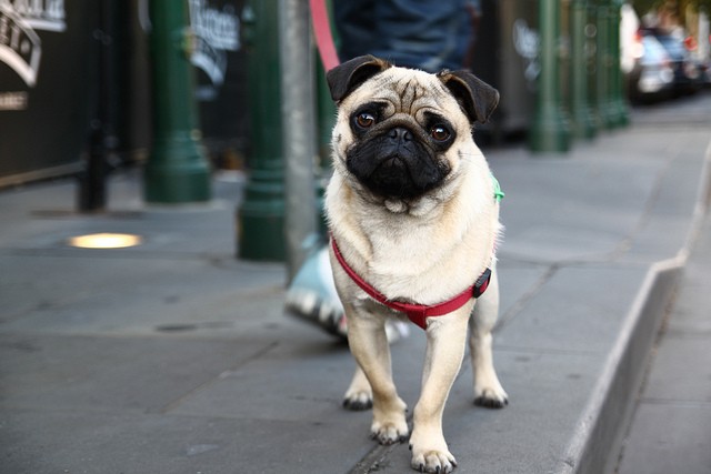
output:
[[[442,110],[455,104],[442,81],[424,71],[389,68],[365,84],[352,94],[353,100],[383,102],[391,113],[414,115],[419,111]]]

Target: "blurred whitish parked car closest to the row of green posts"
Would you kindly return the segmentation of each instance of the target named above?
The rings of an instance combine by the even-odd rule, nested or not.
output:
[[[638,34],[632,48],[634,64],[628,75],[628,94],[634,101],[650,101],[670,95],[674,85],[672,61],[653,36]]]

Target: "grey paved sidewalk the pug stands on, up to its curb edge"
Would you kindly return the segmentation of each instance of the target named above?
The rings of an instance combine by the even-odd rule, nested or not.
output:
[[[494,356],[510,405],[474,407],[465,362],[444,413],[460,473],[602,473],[705,213],[711,94],[644,109],[561,157],[487,150],[507,198]],[[403,473],[407,444],[340,407],[344,344],[283,315],[284,269],[233,258],[241,184],[206,206],[111,210],[70,182],[0,192],[0,468],[8,473]],[[91,232],[140,246],[72,249]],[[417,401],[423,334],[393,349]]]

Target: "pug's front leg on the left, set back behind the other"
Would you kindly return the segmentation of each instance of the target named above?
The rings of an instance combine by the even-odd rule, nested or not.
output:
[[[350,310],[350,311],[349,311]],[[354,314],[357,311],[358,314]],[[348,343],[359,367],[365,374],[372,389],[373,423],[371,436],[380,444],[393,444],[408,438],[405,403],[398,396],[392,381],[390,346],[384,329],[384,316],[363,309],[347,307]],[[360,390],[354,390],[360,389]],[[356,372],[344,405],[353,400],[357,392],[362,394],[362,376]],[[362,400],[360,401],[362,403]]]

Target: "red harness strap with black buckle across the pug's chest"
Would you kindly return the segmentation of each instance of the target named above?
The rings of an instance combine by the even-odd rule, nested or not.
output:
[[[385,306],[403,312],[408,315],[410,321],[412,321],[418,326],[427,330],[427,319],[431,316],[442,316],[444,314],[449,314],[452,311],[459,310],[469,300],[478,299],[481,296],[487,288],[489,288],[489,282],[491,281],[491,269],[484,270],[484,272],[477,279],[477,282],[469,286],[467,290],[458,294],[457,296],[448,300],[443,303],[434,304],[431,306],[424,304],[414,304],[414,303],[401,303],[398,301],[390,301],[375,290],[372,285],[370,285],[365,280],[363,280],[353,269],[350,268],[343,255],[341,254],[338,244],[336,243],[336,239],[331,235],[331,246],[333,248],[333,254],[336,259],[338,259],[339,263],[348,273],[348,275],[361,288],[365,293],[368,293],[373,300],[379,303],[384,304]]]

